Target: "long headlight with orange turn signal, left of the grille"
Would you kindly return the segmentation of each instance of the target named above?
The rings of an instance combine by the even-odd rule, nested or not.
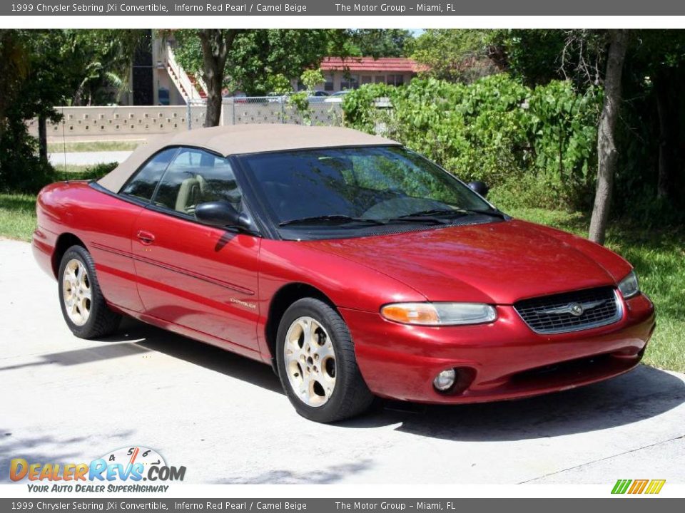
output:
[[[480,324],[497,318],[494,307],[483,303],[393,303],[380,309],[388,321],[422,326]]]

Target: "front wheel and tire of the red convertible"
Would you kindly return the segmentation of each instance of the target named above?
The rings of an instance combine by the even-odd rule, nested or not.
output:
[[[330,305],[295,301],[280,320],[275,348],[283,390],[304,418],[334,423],[370,408],[374,396],[357,366],[350,331]]]

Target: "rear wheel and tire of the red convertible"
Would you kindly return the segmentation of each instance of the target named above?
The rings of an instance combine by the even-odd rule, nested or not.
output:
[[[64,253],[59,264],[57,291],[64,321],[78,338],[108,336],[118,328],[121,315],[107,306],[98,284],[95,262],[84,247],[72,246]]]

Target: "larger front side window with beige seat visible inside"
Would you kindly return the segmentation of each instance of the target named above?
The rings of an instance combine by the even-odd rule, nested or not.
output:
[[[171,162],[153,203],[194,215],[198,204],[222,200],[242,212],[242,199],[228,159],[203,150],[184,148]]]

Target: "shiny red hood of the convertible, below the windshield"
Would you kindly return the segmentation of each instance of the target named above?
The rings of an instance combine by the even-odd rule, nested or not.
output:
[[[516,219],[306,244],[392,276],[430,301],[512,304],[614,285],[631,269],[587,239]]]

